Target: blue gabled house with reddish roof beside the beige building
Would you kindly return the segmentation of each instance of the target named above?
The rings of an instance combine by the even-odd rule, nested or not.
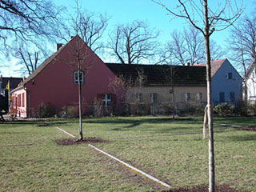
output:
[[[237,105],[242,101],[242,77],[227,58],[211,62],[211,81],[214,106],[225,102]]]

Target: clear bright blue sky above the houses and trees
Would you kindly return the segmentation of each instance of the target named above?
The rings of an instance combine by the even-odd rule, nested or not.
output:
[[[126,24],[127,22],[133,22],[134,20],[147,21],[150,24],[150,27],[155,28],[160,31],[158,40],[160,42],[166,42],[170,40],[170,33],[173,30],[182,30],[184,27],[188,26],[186,21],[177,18],[172,19],[167,15],[166,10],[162,9],[161,6],[158,6],[150,0],[81,0],[82,9],[89,12],[106,14],[110,17],[108,22],[107,30],[111,30],[117,24]],[[168,2],[169,6],[174,6],[174,0],[166,0],[163,2]],[[210,1],[209,1],[210,2]],[[212,0],[210,3],[216,1]],[[221,2],[221,1],[218,1]],[[240,1],[237,1],[240,2]],[[244,14],[250,14],[256,5],[255,1],[244,0],[243,5],[246,10]],[[74,14],[75,6],[74,0],[54,0],[54,3],[60,6],[66,6],[66,15]],[[243,14],[243,15],[244,15]],[[170,21],[171,20],[171,21]],[[211,36],[214,41],[224,47],[225,40],[228,37],[229,30],[223,30],[221,32],[214,32]],[[105,38],[107,38],[108,31],[106,31]],[[50,46],[51,50],[54,50],[55,45]],[[99,55],[100,56],[100,55]],[[227,56],[223,56],[226,58]],[[110,62],[105,60],[106,62]],[[13,76],[17,77],[20,74],[15,73],[17,66],[15,66],[15,59],[12,59],[9,62],[9,67],[2,68],[1,74],[4,76]]]

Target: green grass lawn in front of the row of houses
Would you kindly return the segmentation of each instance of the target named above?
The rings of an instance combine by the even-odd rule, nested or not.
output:
[[[256,118],[214,118],[255,126]],[[86,144],[58,146],[78,137],[78,120],[0,124],[0,191],[161,191]],[[214,125],[216,182],[256,191],[256,132]],[[207,185],[208,142],[202,118],[85,118],[85,137],[109,139],[94,146],[170,186]]]

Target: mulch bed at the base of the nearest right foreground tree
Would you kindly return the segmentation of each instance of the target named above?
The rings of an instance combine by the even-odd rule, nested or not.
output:
[[[209,186],[185,186],[174,190],[162,190],[162,192],[208,192]],[[247,190],[235,190],[228,185],[215,186],[215,192],[249,192]]]

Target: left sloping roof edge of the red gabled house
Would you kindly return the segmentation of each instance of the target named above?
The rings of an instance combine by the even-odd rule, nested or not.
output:
[[[54,54],[50,55],[49,58],[46,58],[44,62],[24,82],[22,82],[21,86],[26,85],[27,82],[30,82],[33,78],[35,78],[50,62],[54,60],[54,58],[57,57],[59,53],[62,52],[62,50],[70,44],[71,41],[73,41],[75,38],[80,38],[78,35],[74,36],[74,38],[71,38],[69,42],[66,42],[65,45],[61,46]]]

